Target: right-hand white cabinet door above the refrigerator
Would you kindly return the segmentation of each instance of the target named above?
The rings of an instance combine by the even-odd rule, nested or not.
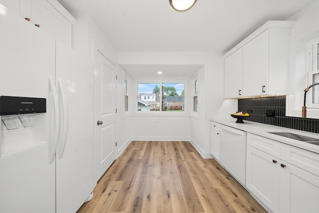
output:
[[[40,28],[71,47],[71,22],[46,0],[31,1],[31,21]]]

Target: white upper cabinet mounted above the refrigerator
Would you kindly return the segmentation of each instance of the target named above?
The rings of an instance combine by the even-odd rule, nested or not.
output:
[[[75,19],[57,0],[0,0],[0,3],[71,47]]]

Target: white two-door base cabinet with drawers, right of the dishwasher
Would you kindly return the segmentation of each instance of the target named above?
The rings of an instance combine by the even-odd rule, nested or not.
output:
[[[246,163],[246,187],[272,212],[319,212],[318,154],[247,133]]]

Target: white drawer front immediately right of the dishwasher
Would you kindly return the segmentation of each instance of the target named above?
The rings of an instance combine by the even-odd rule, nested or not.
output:
[[[247,145],[280,158],[281,143],[278,141],[247,133]]]

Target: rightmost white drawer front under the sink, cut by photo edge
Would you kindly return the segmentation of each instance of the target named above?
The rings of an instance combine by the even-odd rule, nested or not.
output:
[[[319,176],[319,154],[282,144],[281,159]]]

